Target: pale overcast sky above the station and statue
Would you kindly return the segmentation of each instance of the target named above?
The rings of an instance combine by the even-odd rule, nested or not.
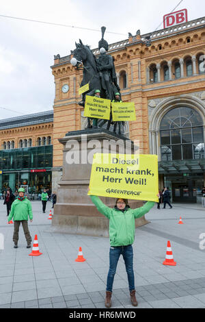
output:
[[[98,47],[100,27],[107,27],[109,44],[154,32],[180,0],[1,0],[0,15],[61,23],[78,28],[45,25],[0,16],[0,119],[53,109],[53,56],[70,55],[79,38]],[[188,20],[205,16],[204,0],[183,0]],[[176,11],[175,10],[175,11]],[[158,28],[163,29],[163,24]],[[111,34],[114,32],[118,34]],[[12,112],[13,111],[13,112]]]

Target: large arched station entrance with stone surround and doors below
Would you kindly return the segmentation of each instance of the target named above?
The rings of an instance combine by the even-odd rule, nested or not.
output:
[[[205,107],[196,97],[167,99],[150,122],[150,148],[159,156],[159,175],[174,202],[197,202],[204,186]]]

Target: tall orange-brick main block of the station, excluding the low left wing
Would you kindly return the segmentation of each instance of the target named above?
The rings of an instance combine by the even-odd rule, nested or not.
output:
[[[122,100],[135,103],[137,119],[128,124],[129,138],[139,140],[140,153],[158,155],[159,188],[169,186],[176,202],[196,202],[205,185],[204,41],[205,17],[146,35],[130,34],[109,45]],[[98,49],[93,53],[98,55]],[[86,124],[78,105],[82,71],[70,64],[71,58],[55,55],[51,66],[55,179],[62,164],[58,138]]]

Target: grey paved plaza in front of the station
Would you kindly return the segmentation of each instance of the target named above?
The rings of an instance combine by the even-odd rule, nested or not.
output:
[[[40,201],[32,201],[33,223],[29,230],[38,235],[41,256],[29,256],[23,227],[18,249],[13,248],[14,225],[8,225],[6,206],[0,201],[0,308],[105,308],[109,269],[109,238],[49,232]],[[178,225],[182,217],[184,225]],[[134,270],[137,308],[205,308],[205,208],[199,204],[173,204],[172,210],[148,214],[148,225],[135,234]],[[204,233],[203,239],[200,235]],[[202,236],[201,236],[202,237]],[[170,240],[176,267],[164,266]],[[85,262],[75,262],[82,247]],[[205,248],[205,247],[204,247]],[[131,306],[122,256],[113,284],[112,308]]]

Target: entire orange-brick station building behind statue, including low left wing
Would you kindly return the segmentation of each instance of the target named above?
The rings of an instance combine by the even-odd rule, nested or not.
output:
[[[145,44],[148,36],[150,47]],[[136,121],[128,123],[126,135],[139,140],[140,153],[158,156],[159,188],[169,186],[175,202],[197,202],[205,186],[204,42],[205,17],[146,35],[137,32],[109,45],[122,100],[135,103]],[[98,55],[98,49],[93,53]],[[63,164],[59,138],[87,124],[78,105],[83,75],[70,64],[71,58],[54,56],[52,111],[0,121],[0,162],[5,175],[0,188],[27,181],[38,189],[52,177],[52,190],[57,190]],[[46,169],[51,176],[40,179],[37,172],[33,177],[33,169]]]

